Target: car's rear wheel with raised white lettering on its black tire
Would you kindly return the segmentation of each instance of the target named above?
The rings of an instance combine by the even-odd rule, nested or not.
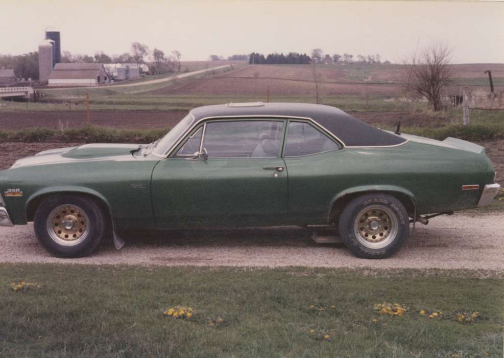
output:
[[[387,194],[353,199],[340,215],[338,227],[345,245],[359,257],[379,259],[394,254],[410,230],[406,209]]]

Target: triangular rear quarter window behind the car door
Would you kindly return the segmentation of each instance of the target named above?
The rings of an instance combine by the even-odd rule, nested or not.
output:
[[[313,125],[305,122],[289,122],[285,156],[301,156],[339,149],[337,143]]]

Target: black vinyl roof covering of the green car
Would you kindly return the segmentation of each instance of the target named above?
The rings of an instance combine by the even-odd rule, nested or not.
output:
[[[338,138],[346,147],[399,145],[407,140],[373,127],[339,108],[308,103],[219,104],[194,108],[194,123],[207,117],[282,116],[310,118]],[[192,124],[191,124],[192,126]]]

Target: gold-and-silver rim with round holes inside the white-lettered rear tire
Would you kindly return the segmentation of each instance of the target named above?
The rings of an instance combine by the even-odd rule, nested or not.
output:
[[[371,205],[355,217],[354,234],[358,242],[369,249],[387,247],[397,236],[397,216],[383,205]]]

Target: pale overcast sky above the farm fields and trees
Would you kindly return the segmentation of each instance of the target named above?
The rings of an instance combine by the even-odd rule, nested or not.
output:
[[[420,39],[449,43],[455,63],[504,62],[504,2],[0,0],[0,54],[36,51],[47,27],[90,55],[140,41],[182,60],[321,48],[398,62]]]

